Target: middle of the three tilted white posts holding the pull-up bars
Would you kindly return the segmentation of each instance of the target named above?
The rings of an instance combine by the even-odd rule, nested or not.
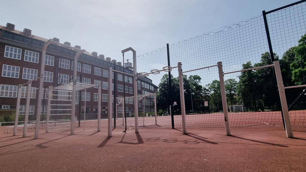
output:
[[[226,133],[226,136],[230,136],[231,133],[230,133],[229,118],[228,118],[222,62],[218,62],[218,70],[219,70],[219,79],[220,79],[220,88],[221,88],[222,107],[223,107],[223,114],[224,114],[225,133]]]

